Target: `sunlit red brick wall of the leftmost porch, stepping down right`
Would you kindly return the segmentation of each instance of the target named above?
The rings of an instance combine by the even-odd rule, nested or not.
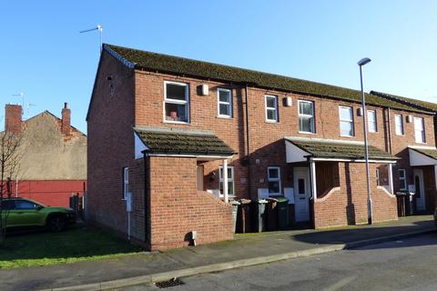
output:
[[[150,249],[188,246],[189,232],[198,244],[232,239],[232,209],[197,190],[196,158],[150,159]]]

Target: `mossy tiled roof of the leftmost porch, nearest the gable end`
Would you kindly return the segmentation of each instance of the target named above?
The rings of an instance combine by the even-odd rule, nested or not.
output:
[[[154,155],[172,156],[232,156],[235,151],[209,131],[169,128],[134,128],[137,136]]]

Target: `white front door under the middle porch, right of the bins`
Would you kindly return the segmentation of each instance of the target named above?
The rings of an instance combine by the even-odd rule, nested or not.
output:
[[[294,168],[294,211],[296,222],[310,220],[310,169]]]

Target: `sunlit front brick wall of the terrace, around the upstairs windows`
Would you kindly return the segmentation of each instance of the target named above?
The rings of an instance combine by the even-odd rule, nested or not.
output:
[[[163,122],[164,114],[164,81],[176,81],[189,84],[190,97],[190,124],[177,125]],[[208,84],[209,95],[198,95],[198,85]],[[235,155],[230,166],[235,166],[236,194],[240,197],[256,197],[258,188],[268,186],[267,166],[280,166],[282,187],[292,186],[292,173],[290,166],[285,163],[285,145],[283,137],[306,136],[317,138],[331,138],[348,141],[362,141],[362,117],[357,115],[360,103],[339,101],[335,99],[320,98],[310,95],[285,94],[284,92],[265,90],[249,87],[249,143],[250,143],[250,187],[248,193],[248,166],[242,166],[240,159],[246,156],[245,132],[245,91],[244,87],[227,85],[219,82],[198,80],[194,78],[163,75],[137,71],[136,74],[136,125],[154,125],[163,127],[178,127],[187,129],[211,130],[234,148],[239,154]],[[217,88],[226,87],[233,91],[233,118],[219,118],[217,113]],[[279,123],[268,123],[265,117],[264,95],[277,95],[279,108]],[[292,98],[292,105],[285,107],[282,99],[286,96]],[[298,100],[314,101],[315,105],[315,134],[300,134],[298,125]],[[341,137],[339,125],[339,105],[352,106],[354,115],[355,136]],[[370,133],[369,139],[372,146],[390,151],[388,138],[388,110],[369,105],[367,109],[377,112],[377,133]],[[400,166],[409,169],[409,156],[407,146],[417,145],[414,141],[414,125],[406,123],[406,115],[418,115],[411,112],[391,109],[391,148],[393,155],[401,156]],[[404,117],[405,135],[394,134],[394,114]],[[426,146],[434,146],[432,115],[422,115],[425,118]],[[257,163],[258,162],[258,163]],[[205,164],[205,175],[212,172],[218,173],[219,162]],[[394,167],[397,169],[398,167]],[[395,171],[397,175],[397,171]],[[397,176],[394,176],[395,190]],[[411,183],[411,181],[409,181]],[[206,188],[219,188],[219,177],[211,181],[205,179]]]

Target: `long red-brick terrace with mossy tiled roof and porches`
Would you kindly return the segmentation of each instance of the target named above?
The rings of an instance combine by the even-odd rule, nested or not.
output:
[[[409,146],[435,146],[433,114],[366,98],[363,113],[356,90],[103,45],[87,114],[89,219],[151,250],[232,238],[232,198],[287,196],[293,222],[316,228],[367,223],[362,114],[372,220],[397,219],[391,169]]]

